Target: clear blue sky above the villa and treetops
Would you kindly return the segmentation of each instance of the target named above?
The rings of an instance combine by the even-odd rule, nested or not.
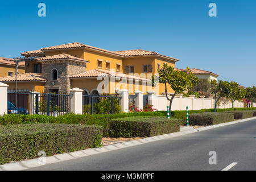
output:
[[[46,4],[46,17],[38,4]],[[217,17],[208,15],[216,3]],[[80,42],[119,51],[146,49],[219,79],[256,85],[256,1],[1,1],[0,57]]]

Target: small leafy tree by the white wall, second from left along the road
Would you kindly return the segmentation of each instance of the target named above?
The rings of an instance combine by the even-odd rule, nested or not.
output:
[[[228,81],[210,81],[210,93],[212,93],[215,97],[215,105],[214,105],[214,112],[217,111],[217,102],[222,97],[230,97],[231,93],[231,86]]]

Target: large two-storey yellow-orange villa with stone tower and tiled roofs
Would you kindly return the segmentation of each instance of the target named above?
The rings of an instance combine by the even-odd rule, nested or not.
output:
[[[34,73],[46,80],[45,83],[38,84],[38,89],[42,90],[44,85],[44,92],[58,89],[59,92],[63,92],[63,85],[66,82],[62,82],[61,79],[65,81],[70,79],[67,81],[69,86],[65,90],[77,87],[84,89],[85,94],[93,94],[95,90],[98,93],[113,94],[118,89],[127,89],[129,93],[141,90],[144,94],[147,91],[162,94],[164,85],[158,84],[152,88],[150,78],[158,73],[163,63],[175,67],[175,63],[178,61],[172,57],[142,49],[108,51],[77,42],[27,51],[21,55],[38,57],[33,61],[26,61],[25,65],[26,73]],[[64,68],[64,63],[69,65],[66,66],[67,69]],[[61,64],[63,68],[61,68]],[[64,73],[66,75],[63,75]],[[52,78],[54,74],[57,76],[56,80]],[[108,79],[108,81],[104,82],[104,79],[105,81]],[[32,82],[26,84],[32,85]],[[29,88],[31,87],[34,90],[36,88],[35,85]],[[170,86],[168,86],[167,92],[174,93]]]

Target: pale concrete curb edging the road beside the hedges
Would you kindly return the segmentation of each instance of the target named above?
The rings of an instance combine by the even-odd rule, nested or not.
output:
[[[228,125],[233,125],[233,124],[240,123],[240,122],[251,121],[253,119],[256,119],[256,117],[240,119],[237,121],[232,121],[232,122],[227,122],[227,123],[220,123],[218,125],[213,125],[213,126],[199,127],[197,129],[189,129],[189,130],[179,131],[176,133],[158,135],[158,136],[154,136],[154,137],[147,137],[147,138],[138,139],[138,140],[131,140],[129,142],[115,143],[115,144],[110,144],[108,146],[104,146],[101,148],[88,148],[86,150],[81,150],[81,151],[57,154],[57,155],[46,157],[45,164],[40,164],[39,158],[23,160],[21,162],[3,164],[3,165],[0,165],[0,171],[20,171],[20,170],[24,170],[24,169],[28,169],[28,168],[40,167],[40,166],[44,166],[47,164],[63,162],[66,160],[71,160],[71,159],[78,159],[78,158],[82,158],[82,157],[89,156],[89,155],[101,154],[104,152],[114,151],[114,150],[127,148],[127,147],[133,147],[133,146],[137,146],[137,145],[144,144],[144,143],[155,142],[157,140],[174,138],[174,137],[179,137],[181,135],[196,133],[199,131],[215,129],[215,128],[221,127],[221,126],[228,126]]]

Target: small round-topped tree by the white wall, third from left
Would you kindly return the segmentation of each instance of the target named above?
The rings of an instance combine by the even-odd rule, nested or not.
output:
[[[232,101],[232,108],[234,108],[234,100],[241,100],[242,98],[245,98],[245,89],[241,88],[237,82],[231,81],[230,83],[230,93],[229,98]]]

